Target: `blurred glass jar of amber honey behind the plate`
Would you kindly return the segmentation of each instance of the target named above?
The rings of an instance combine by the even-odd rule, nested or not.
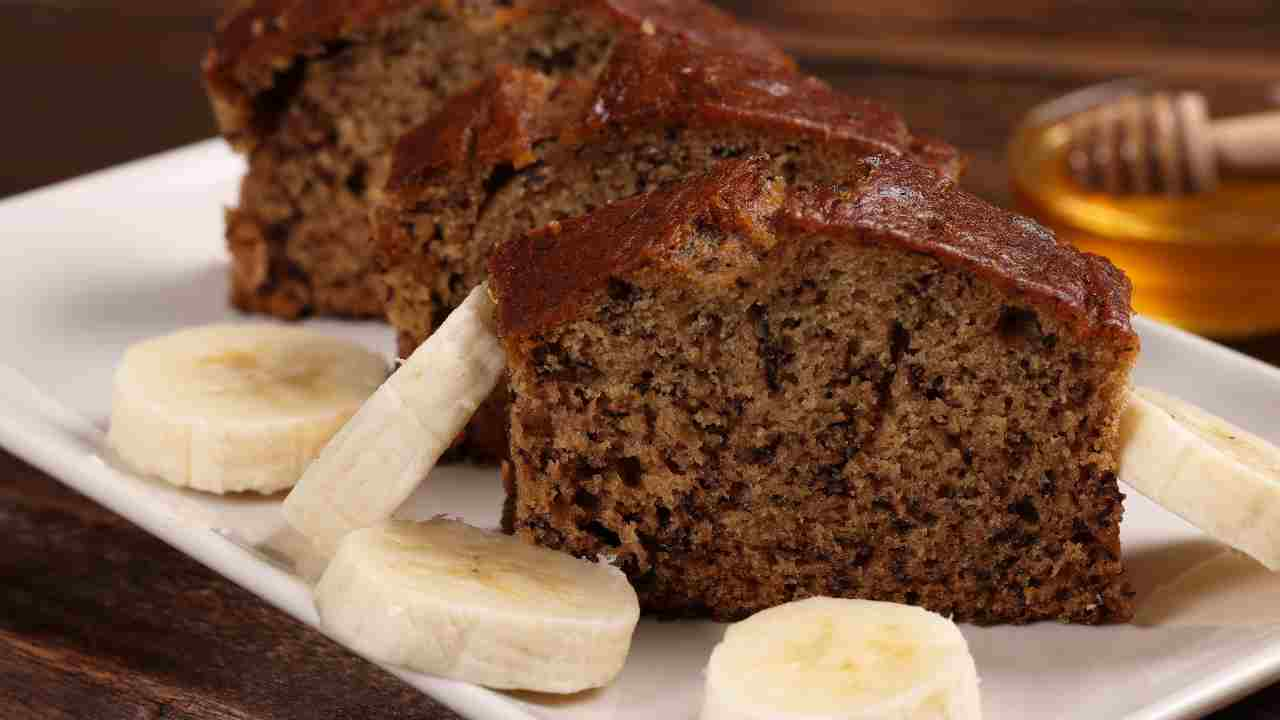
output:
[[[1178,196],[1108,195],[1073,178],[1071,118],[1157,90],[1187,88],[1125,81],[1034,109],[1009,147],[1020,209],[1123,268],[1143,315],[1222,340],[1280,331],[1280,177],[1224,176],[1216,190]],[[1280,104],[1280,92],[1192,90],[1215,117]]]

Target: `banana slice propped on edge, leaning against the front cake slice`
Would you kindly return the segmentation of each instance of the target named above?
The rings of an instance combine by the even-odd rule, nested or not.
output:
[[[485,283],[325,446],[284,500],[284,519],[325,553],[333,553],[344,534],[389,519],[506,366]]]

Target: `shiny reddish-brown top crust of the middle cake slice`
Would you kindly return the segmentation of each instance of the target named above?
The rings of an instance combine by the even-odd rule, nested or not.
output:
[[[653,127],[749,128],[814,138],[833,154],[908,155],[951,178],[964,169],[955,147],[913,136],[881,102],[841,94],[790,67],[675,37],[623,40],[595,87],[571,79],[553,92],[535,76],[503,70],[406,135],[393,152],[389,204],[417,201],[416,190],[449,173],[502,163],[518,168],[541,140],[586,145],[604,133]],[[481,136],[494,145],[476,152]]]

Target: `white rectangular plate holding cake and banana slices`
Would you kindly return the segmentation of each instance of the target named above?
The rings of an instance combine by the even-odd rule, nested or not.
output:
[[[243,168],[210,141],[0,202],[0,443],[310,625],[307,584],[262,547],[279,498],[215,498],[118,470],[104,457],[113,368],[134,341],[233,318],[221,209]],[[251,319],[251,322],[266,322]],[[379,324],[316,320],[390,354]],[[1280,372],[1139,320],[1138,382],[1280,442]],[[438,470],[412,514],[497,524],[497,473]],[[1132,491],[1123,525],[1139,593],[1203,537]],[[1140,598],[1142,596],[1139,596]],[[1276,596],[1258,602],[1275,602]],[[621,678],[572,698],[494,693],[397,671],[476,719],[692,719],[723,628],[645,620]],[[988,720],[1198,717],[1280,676],[1280,625],[965,628]]]

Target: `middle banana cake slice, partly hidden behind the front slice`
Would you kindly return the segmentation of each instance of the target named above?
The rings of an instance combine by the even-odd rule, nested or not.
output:
[[[401,352],[484,281],[498,242],[754,152],[795,182],[837,181],[870,154],[960,170],[879,102],[673,36],[623,38],[596,82],[503,68],[392,152],[374,228]],[[468,427],[474,459],[506,454],[503,395]]]

